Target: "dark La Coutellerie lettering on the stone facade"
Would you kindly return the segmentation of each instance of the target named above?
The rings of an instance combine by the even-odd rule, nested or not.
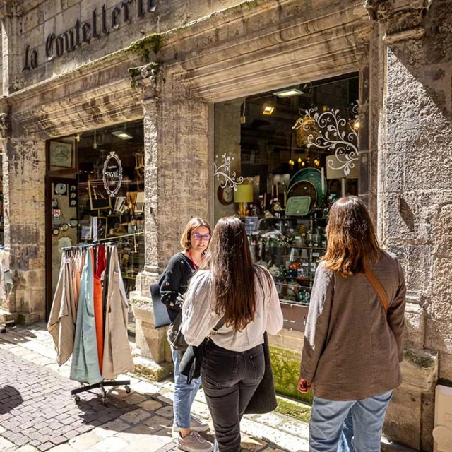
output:
[[[133,7],[135,4],[135,7]],[[100,11],[93,10],[91,20],[81,23],[76,20],[73,28],[66,30],[61,35],[50,33],[45,40],[45,57],[47,61],[61,57],[64,52],[71,53],[83,44],[89,44],[93,39],[109,32],[118,30],[120,23],[131,23],[133,12],[141,18],[147,12],[155,11],[155,0],[121,0],[107,13],[107,6],[102,5]],[[23,72],[36,69],[39,64],[37,49],[30,52],[30,46],[25,47],[25,64]]]

